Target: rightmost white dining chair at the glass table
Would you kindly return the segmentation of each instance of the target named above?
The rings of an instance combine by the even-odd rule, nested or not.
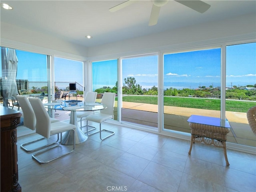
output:
[[[105,92],[102,96],[102,100],[101,103],[105,104],[107,107],[105,109],[100,110],[100,113],[97,114],[92,114],[86,117],[86,132],[88,134],[88,136],[98,133],[100,132],[100,139],[104,140],[112,135],[115,134],[115,132],[110,131],[110,130],[106,130],[106,129],[101,129],[101,123],[108,120],[108,119],[112,119],[114,118],[114,104],[115,104],[115,93],[109,93],[109,92]],[[90,131],[88,131],[88,121],[93,121],[93,122],[97,122],[100,124],[100,130],[97,132],[94,132],[92,134],[89,134]],[[104,138],[102,138],[101,134],[102,131],[106,131],[106,132],[110,132],[110,134]]]

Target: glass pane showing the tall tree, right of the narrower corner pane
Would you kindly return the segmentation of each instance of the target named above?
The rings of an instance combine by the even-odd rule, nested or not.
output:
[[[122,121],[158,128],[158,56],[122,59]]]

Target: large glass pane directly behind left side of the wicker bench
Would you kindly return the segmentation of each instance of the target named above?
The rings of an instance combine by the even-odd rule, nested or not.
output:
[[[190,133],[193,115],[220,117],[220,48],[164,55],[164,130]]]

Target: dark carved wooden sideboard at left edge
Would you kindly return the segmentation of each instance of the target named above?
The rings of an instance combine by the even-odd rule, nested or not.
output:
[[[17,126],[21,112],[0,106],[1,192],[21,192],[18,183]]]

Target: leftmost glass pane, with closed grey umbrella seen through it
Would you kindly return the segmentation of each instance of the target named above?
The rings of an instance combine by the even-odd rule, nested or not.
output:
[[[46,55],[2,47],[1,58],[1,97],[7,98],[10,106],[17,94],[48,100]]]

